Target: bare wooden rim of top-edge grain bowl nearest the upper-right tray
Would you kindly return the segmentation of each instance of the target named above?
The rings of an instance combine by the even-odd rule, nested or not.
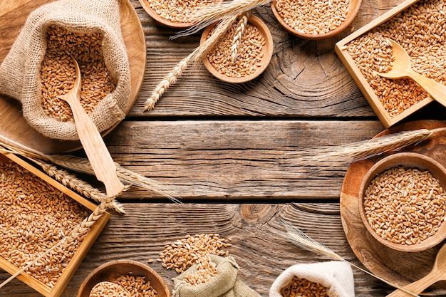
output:
[[[271,11],[273,11],[273,14],[274,14],[274,16],[276,16],[276,19],[277,19],[277,21],[279,21],[279,24],[281,24],[281,26],[284,27],[286,29],[286,31],[289,31],[289,33],[292,33],[298,37],[306,38],[306,39],[325,39],[325,38],[331,38],[333,36],[338,35],[338,33],[341,33],[342,31],[344,31],[351,24],[353,19],[356,18],[356,15],[358,14],[360,7],[361,7],[361,0],[348,1],[347,16],[346,16],[345,21],[343,21],[343,23],[340,26],[334,28],[331,31],[328,31],[328,33],[309,34],[309,33],[304,33],[302,31],[298,31],[298,30],[292,28],[291,26],[289,26],[288,24],[286,24],[284,19],[279,14],[279,11],[277,11],[276,0],[273,0],[271,3]]]

